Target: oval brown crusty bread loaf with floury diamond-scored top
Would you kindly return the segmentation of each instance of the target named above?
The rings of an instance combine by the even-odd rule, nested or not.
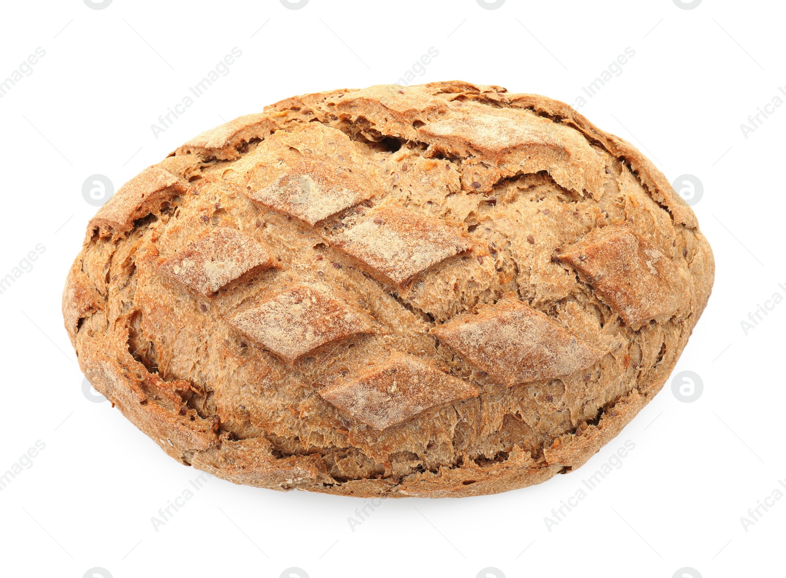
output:
[[[475,496],[578,468],[709,298],[696,217],[567,104],[432,82],[288,98],[185,143],[87,227],[87,379],[238,484]]]

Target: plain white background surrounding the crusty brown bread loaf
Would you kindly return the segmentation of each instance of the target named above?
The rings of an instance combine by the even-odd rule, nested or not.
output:
[[[299,10],[278,0],[114,0],[101,10],[83,0],[6,2],[0,79],[37,47],[46,56],[0,99],[0,276],[38,243],[46,251],[0,294],[0,474],[36,441],[46,448],[0,492],[0,574],[782,573],[786,499],[747,532],[740,517],[786,478],[786,303],[747,335],[740,321],[773,293],[786,297],[786,106],[747,138],[740,124],[786,86],[783,21],[775,0],[696,9],[507,0],[493,10],[476,0],[310,0]],[[235,46],[242,56],[230,73],[154,137],[150,125]],[[150,518],[199,472],[83,394],[61,318],[65,275],[96,210],[83,181],[105,174],[119,188],[195,134],[285,97],[395,82],[432,46],[439,56],[415,83],[464,79],[570,104],[635,50],[579,110],[641,148],[670,181],[693,174],[703,183],[693,209],[717,273],[675,370],[700,375],[701,397],[678,401],[667,382],[575,473],[498,496],[389,500],[354,532],[347,518],[362,499],[218,478],[156,532]],[[635,449],[623,466],[546,529],[552,508],[626,440]]]

